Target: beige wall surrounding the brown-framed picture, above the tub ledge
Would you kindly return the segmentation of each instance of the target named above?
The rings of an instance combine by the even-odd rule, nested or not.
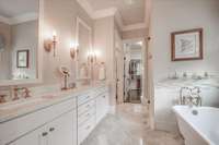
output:
[[[175,70],[218,72],[218,0],[155,0],[152,13],[155,81],[168,77],[168,73]],[[204,60],[171,61],[171,33],[199,27],[204,28]]]

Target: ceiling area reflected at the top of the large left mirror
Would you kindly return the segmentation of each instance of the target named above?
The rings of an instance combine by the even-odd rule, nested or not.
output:
[[[0,15],[15,17],[27,13],[37,13],[38,0],[0,0]]]

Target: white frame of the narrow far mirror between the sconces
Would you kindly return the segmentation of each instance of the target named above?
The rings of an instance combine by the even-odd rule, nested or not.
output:
[[[79,44],[79,25],[83,25],[88,31],[89,31],[89,41],[90,41],[90,51],[92,51],[92,27],[89,26],[82,19],[80,19],[79,16],[77,16],[77,22],[76,22],[76,43]],[[79,49],[79,53],[80,53],[80,49]],[[76,80],[77,81],[82,81],[84,78],[80,78],[79,75],[79,60],[80,58],[77,58],[77,62],[76,62]],[[91,81],[92,80],[92,72],[91,72],[91,67],[89,67],[89,76],[88,80]]]

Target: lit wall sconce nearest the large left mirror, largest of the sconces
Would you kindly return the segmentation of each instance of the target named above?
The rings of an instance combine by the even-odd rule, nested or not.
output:
[[[44,41],[44,48],[47,52],[50,52],[54,49],[54,57],[56,57],[56,44],[57,44],[57,34],[54,31],[53,37],[46,38]]]

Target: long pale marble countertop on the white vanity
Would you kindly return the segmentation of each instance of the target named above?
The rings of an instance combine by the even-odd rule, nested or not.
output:
[[[57,90],[53,93],[42,94],[39,96],[34,96],[28,99],[20,99],[16,101],[2,104],[0,105],[0,123],[35,112],[37,110],[47,108],[61,101],[72,99],[73,97],[77,97],[78,95],[87,90],[96,89],[104,86],[106,85],[99,84],[92,86],[83,86],[69,90]]]

